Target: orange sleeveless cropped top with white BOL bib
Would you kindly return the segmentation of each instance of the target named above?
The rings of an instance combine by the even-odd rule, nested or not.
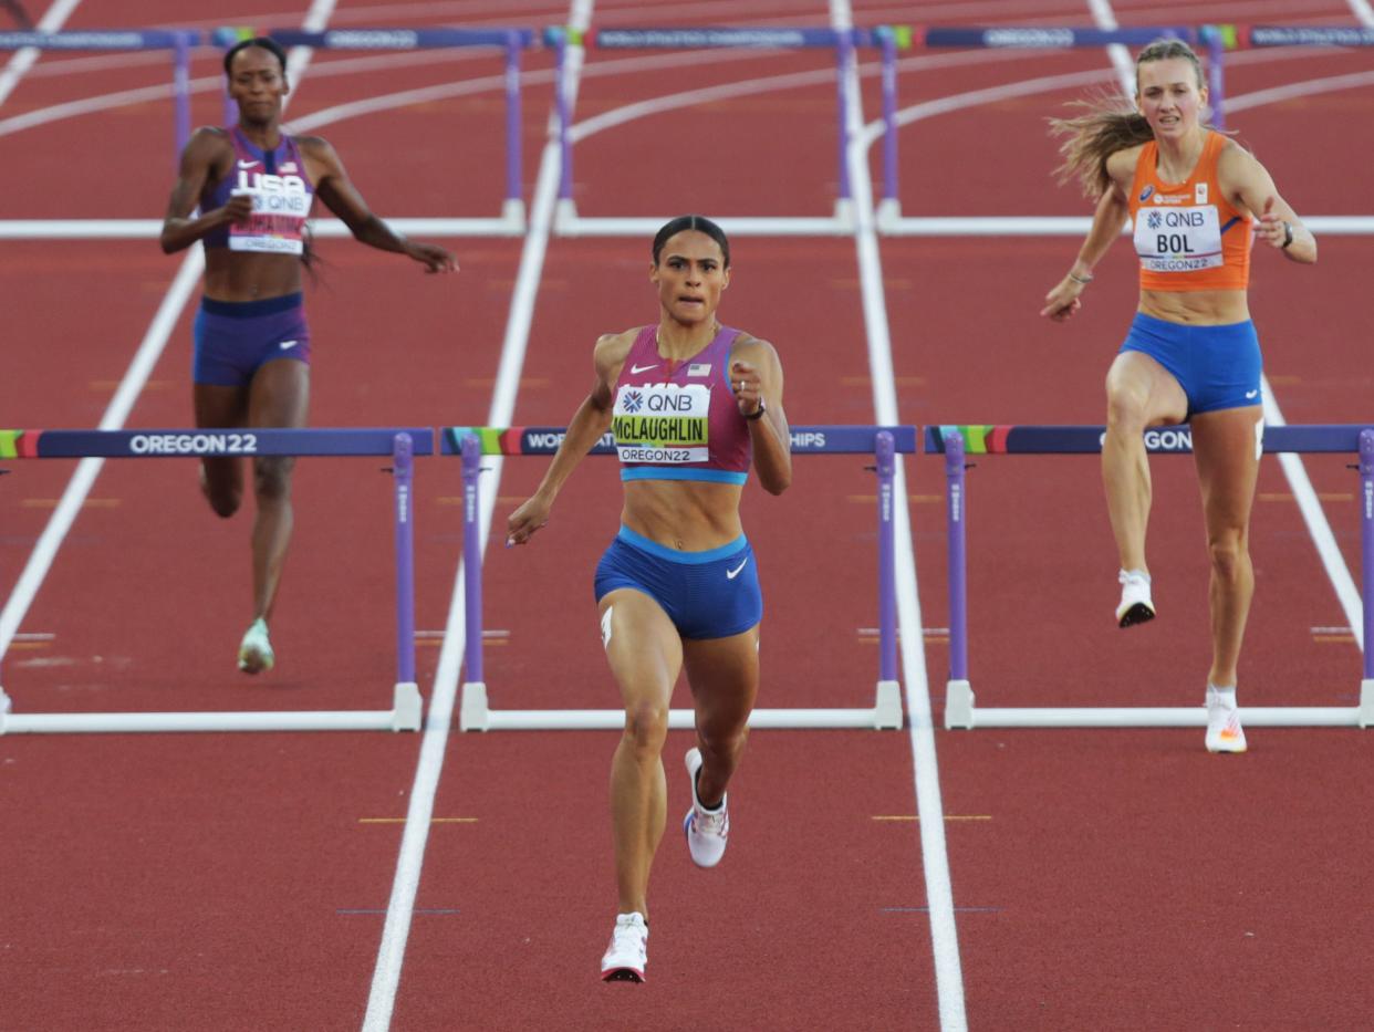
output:
[[[1227,137],[1208,132],[1193,175],[1160,179],[1160,147],[1140,150],[1131,181],[1131,221],[1140,258],[1140,289],[1245,290],[1250,283],[1250,216],[1234,209],[1216,181]]]

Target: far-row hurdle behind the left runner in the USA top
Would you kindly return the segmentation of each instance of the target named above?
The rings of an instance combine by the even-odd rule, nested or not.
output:
[[[224,27],[214,32],[214,41],[232,47],[250,29]],[[506,198],[499,218],[387,218],[401,232],[427,232],[440,236],[519,236],[525,232],[525,199],[521,180],[521,58],[536,41],[532,29],[273,29],[269,38],[283,47],[311,47],[333,51],[438,49],[486,47],[506,55]],[[337,218],[315,223],[317,236],[348,236],[349,229]]]

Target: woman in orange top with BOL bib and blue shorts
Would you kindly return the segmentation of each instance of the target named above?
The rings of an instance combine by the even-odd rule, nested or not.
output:
[[[1102,107],[1057,121],[1063,172],[1098,209],[1077,261],[1041,315],[1070,317],[1129,216],[1140,260],[1135,320],[1107,371],[1102,480],[1121,559],[1121,627],[1154,617],[1145,530],[1150,467],[1142,433],[1189,420],[1212,561],[1212,668],[1205,746],[1245,752],[1235,679],[1254,594],[1250,504],[1264,429],[1260,342],[1250,322],[1250,235],[1285,258],[1316,261],[1316,240],[1254,157],[1202,121],[1202,65],[1179,40],[1136,58],[1135,111]]]

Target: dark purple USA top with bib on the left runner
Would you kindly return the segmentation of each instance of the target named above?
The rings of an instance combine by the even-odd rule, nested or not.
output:
[[[275,150],[253,144],[235,125],[228,129],[234,143],[234,166],[214,186],[201,192],[201,210],[224,207],[239,192],[253,195],[253,214],[243,225],[231,224],[205,236],[206,247],[265,254],[304,254],[305,220],[315,201],[315,184],[295,140],[282,133]]]

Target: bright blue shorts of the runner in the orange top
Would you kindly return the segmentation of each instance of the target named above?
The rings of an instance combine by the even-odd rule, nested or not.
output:
[[[1123,352],[1149,355],[1183,388],[1191,419],[1200,412],[1245,408],[1260,399],[1260,338],[1254,323],[1184,326],[1135,313]]]

